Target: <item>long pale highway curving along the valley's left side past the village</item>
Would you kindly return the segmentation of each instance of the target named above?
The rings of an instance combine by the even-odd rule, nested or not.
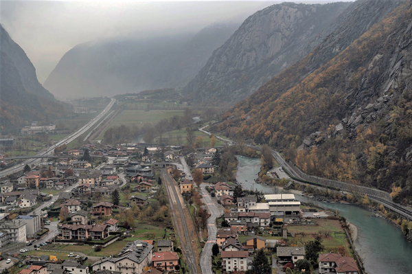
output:
[[[41,152],[38,152],[36,154],[36,156],[45,156],[45,155],[51,155],[52,156],[54,154],[54,149],[55,148],[57,148],[58,146],[62,146],[62,144],[69,144],[71,141],[73,141],[74,139],[76,139],[77,137],[79,137],[80,135],[85,133],[87,130],[89,130],[89,128],[91,128],[100,119],[102,119],[102,117],[104,115],[106,115],[106,113],[108,113],[108,111],[111,109],[113,104],[115,104],[115,102],[116,102],[116,100],[112,99],[111,102],[106,106],[106,108],[99,115],[97,115],[95,118],[91,119],[90,122],[88,122],[87,124],[82,126],[82,128],[77,130],[75,133],[71,133],[71,135],[61,139],[60,141],[58,141],[53,146],[49,146],[49,148],[45,148],[44,150],[41,150]],[[0,179],[2,177],[5,177],[5,176],[8,176],[10,174],[13,174],[13,173],[16,173],[16,172],[19,172],[19,171],[23,170],[25,165],[38,165],[38,164],[41,163],[41,161],[42,161],[41,159],[28,159],[26,161],[23,161],[22,163],[19,163],[18,165],[14,165],[11,168],[8,168],[6,170],[1,171],[0,172]]]

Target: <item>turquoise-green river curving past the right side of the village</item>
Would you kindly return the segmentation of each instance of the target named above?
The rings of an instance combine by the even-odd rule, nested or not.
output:
[[[279,189],[254,183],[260,170],[260,159],[238,156],[236,179],[244,189],[259,190],[266,194],[279,193]],[[369,274],[411,274],[412,244],[405,240],[402,231],[385,219],[374,216],[362,207],[341,203],[322,203],[296,195],[299,201],[313,203],[329,209],[337,209],[348,222],[358,227],[355,249],[363,258],[365,271]]]

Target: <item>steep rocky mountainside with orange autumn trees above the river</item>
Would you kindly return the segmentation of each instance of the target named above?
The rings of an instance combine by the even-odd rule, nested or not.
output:
[[[279,148],[310,174],[388,191],[401,187],[394,198],[407,202],[412,3],[357,4],[321,45],[233,106],[213,128]],[[332,50],[356,35],[347,47]]]

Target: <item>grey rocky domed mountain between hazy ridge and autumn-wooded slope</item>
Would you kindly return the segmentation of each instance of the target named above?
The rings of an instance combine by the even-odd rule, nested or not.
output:
[[[349,5],[282,3],[256,12],[214,51],[183,94],[210,104],[247,98],[319,45]]]

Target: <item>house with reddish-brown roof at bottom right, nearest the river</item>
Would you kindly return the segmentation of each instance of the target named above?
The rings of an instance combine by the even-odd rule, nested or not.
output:
[[[319,254],[319,274],[358,274],[359,269],[353,258],[336,253]]]

